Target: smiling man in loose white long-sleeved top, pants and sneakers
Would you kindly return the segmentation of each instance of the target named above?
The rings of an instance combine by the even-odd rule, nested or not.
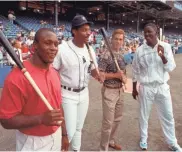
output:
[[[149,23],[144,27],[146,42],[137,48],[133,60],[133,98],[140,104],[140,147],[147,150],[148,119],[152,104],[157,105],[161,126],[165,139],[172,151],[182,151],[175,135],[168,72],[175,69],[176,64],[168,43],[157,38],[157,27]],[[139,92],[136,85],[140,83]]]

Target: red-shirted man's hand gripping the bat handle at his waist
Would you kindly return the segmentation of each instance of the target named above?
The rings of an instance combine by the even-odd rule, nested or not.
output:
[[[41,115],[41,123],[46,126],[61,126],[60,122],[63,120],[60,109],[54,109]]]

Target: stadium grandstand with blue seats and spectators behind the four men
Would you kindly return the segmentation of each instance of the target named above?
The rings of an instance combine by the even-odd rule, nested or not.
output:
[[[108,36],[116,28],[124,29],[126,52],[134,52],[136,45],[143,42],[144,25],[153,22],[163,29],[164,41],[172,45],[174,53],[182,52],[180,1],[12,1],[11,5],[8,1],[1,1],[0,4],[0,29],[9,40],[22,42],[25,59],[26,53],[32,52],[35,32],[42,27],[54,29],[60,40],[71,39],[71,20],[77,14],[94,23],[90,41],[95,50],[104,48],[98,30],[105,27]],[[1,54],[1,64],[9,64],[6,53]]]

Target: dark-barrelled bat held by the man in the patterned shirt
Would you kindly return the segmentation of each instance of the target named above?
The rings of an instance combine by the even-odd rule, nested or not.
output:
[[[112,59],[114,60],[114,63],[115,63],[115,65],[116,65],[117,70],[118,70],[118,71],[121,71],[121,69],[120,69],[120,67],[119,67],[119,64],[118,64],[118,61],[117,61],[116,57],[114,56],[114,54],[113,54],[113,52],[112,52],[112,49],[111,49],[111,46],[110,46],[110,43],[109,43],[109,41],[108,41],[108,39],[107,39],[107,33],[106,33],[105,28],[102,27],[102,28],[100,29],[100,31],[101,31],[101,33],[102,33],[102,35],[103,35],[103,37],[104,37],[104,40],[105,40],[106,45],[107,45],[107,47],[108,47],[108,49],[109,49],[109,52],[110,52],[110,54],[111,54],[111,57],[112,57]],[[124,87],[125,87],[125,89],[126,89],[125,83],[126,83],[126,82],[123,81]]]

